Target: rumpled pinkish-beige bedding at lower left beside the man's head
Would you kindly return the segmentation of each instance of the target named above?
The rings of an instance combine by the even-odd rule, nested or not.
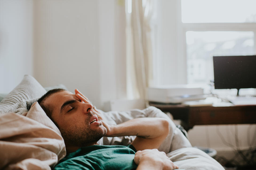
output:
[[[0,115],[0,169],[51,169],[66,155],[58,128],[36,102],[29,112]]]

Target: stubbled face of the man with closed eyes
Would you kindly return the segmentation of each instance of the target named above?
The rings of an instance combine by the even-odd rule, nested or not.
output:
[[[52,111],[52,119],[58,124],[66,144],[88,146],[102,138],[107,129],[91,112],[93,105],[81,102],[75,94],[61,91],[50,95],[44,101]]]

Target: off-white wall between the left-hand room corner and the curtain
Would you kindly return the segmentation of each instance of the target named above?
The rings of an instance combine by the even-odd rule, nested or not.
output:
[[[118,3],[119,2],[119,3]],[[98,108],[125,97],[125,8],[121,1],[34,1],[34,76],[78,88]]]

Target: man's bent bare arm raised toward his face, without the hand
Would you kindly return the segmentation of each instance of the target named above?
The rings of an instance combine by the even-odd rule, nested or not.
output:
[[[137,136],[131,143],[137,151],[157,149],[169,133],[169,122],[163,118],[136,118],[118,125],[103,125],[108,130],[107,137]]]

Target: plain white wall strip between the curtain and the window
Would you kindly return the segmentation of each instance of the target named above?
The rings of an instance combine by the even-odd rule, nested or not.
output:
[[[186,84],[187,70],[186,54],[181,39],[181,14],[179,14],[180,1],[157,1],[157,59],[158,80],[160,85]],[[171,8],[170,7],[175,7]],[[177,11],[176,11],[177,10]]]

